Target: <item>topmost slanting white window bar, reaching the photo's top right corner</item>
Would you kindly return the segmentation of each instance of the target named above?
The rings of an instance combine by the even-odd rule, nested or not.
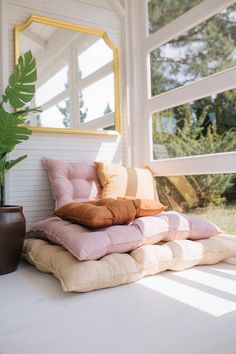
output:
[[[144,1],[142,1],[144,2]],[[166,26],[151,34],[145,40],[144,51],[146,53],[171,41],[181,33],[197,26],[214,16],[225,7],[235,3],[235,0],[205,0],[191,10],[185,12]]]

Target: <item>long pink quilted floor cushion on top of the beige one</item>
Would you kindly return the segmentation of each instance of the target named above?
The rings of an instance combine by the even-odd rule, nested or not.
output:
[[[144,244],[187,238],[195,240],[219,233],[217,226],[206,219],[168,211],[135,219],[129,225],[113,225],[94,231],[52,217],[37,222],[27,237],[43,238],[61,245],[79,261],[84,261],[110,253],[130,252]]]

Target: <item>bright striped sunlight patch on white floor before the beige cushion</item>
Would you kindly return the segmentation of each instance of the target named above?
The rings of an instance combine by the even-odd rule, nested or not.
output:
[[[191,285],[184,284],[186,280],[191,280]],[[189,269],[183,272],[166,272],[164,275],[147,277],[138,283],[215,317],[236,311],[236,301],[219,296],[219,290],[222,293],[236,295],[236,282],[224,278],[223,275],[220,277],[197,269]],[[209,292],[200,289],[201,285],[209,287]],[[214,290],[216,294],[213,294]]]

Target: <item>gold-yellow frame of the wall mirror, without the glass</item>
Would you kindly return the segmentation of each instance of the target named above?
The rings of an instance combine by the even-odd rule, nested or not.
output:
[[[87,26],[78,25],[76,23],[65,22],[62,20],[57,20],[48,17],[31,15],[26,21],[20,23],[14,28],[14,55],[15,64],[17,64],[18,57],[20,55],[20,33],[28,28],[31,23],[37,22],[49,26],[54,26],[58,28],[64,28],[72,31],[92,34],[102,38],[108,47],[113,51],[113,71],[114,71],[114,100],[115,100],[115,112],[114,112],[114,125],[115,130],[82,130],[73,128],[49,128],[49,127],[36,127],[28,126],[32,131],[42,132],[42,133],[68,133],[68,134],[89,134],[89,135],[119,135],[121,133],[120,129],[120,80],[119,80],[119,55],[118,48],[110,40],[107,33],[103,30],[90,28]]]

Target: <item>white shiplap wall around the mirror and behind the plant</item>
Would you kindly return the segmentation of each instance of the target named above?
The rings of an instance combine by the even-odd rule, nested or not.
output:
[[[1,0],[0,0],[1,1]],[[123,26],[121,19],[106,0],[2,0],[8,25],[9,68],[13,65],[13,28],[30,14],[53,17],[107,31],[119,47],[121,62],[121,117],[125,115],[123,56]],[[4,38],[2,38],[4,40]],[[1,43],[1,42],[0,42]],[[4,70],[4,57],[0,72]],[[0,82],[1,83],[1,82]],[[30,140],[18,145],[12,157],[27,154],[28,158],[13,168],[7,177],[7,202],[24,207],[27,226],[51,215],[53,200],[42,157],[62,161],[107,161],[126,163],[124,122],[121,136],[33,133]]]

